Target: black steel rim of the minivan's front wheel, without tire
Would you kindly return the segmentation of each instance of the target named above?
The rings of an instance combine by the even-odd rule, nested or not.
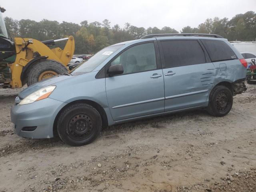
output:
[[[92,133],[92,120],[86,114],[77,114],[68,122],[67,134],[74,140],[84,140],[89,138]]]

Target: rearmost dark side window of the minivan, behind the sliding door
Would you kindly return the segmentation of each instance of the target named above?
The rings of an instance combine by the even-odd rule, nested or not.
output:
[[[212,62],[236,59],[236,54],[224,41],[201,39]]]

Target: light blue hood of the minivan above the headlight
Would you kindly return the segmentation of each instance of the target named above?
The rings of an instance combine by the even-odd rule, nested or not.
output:
[[[29,86],[28,88],[24,89],[22,92],[20,92],[18,94],[18,97],[20,99],[24,99],[29,94],[31,94],[31,93],[33,93],[33,92],[35,92],[35,91],[37,91],[41,88],[44,88],[44,87],[50,86],[50,85],[54,85],[57,82],[60,82],[62,80],[66,80],[66,79],[72,78],[72,77],[73,76],[61,75],[61,76],[56,76],[56,77],[53,77],[53,78],[50,78],[50,79],[40,81],[40,82],[35,83],[35,84]]]

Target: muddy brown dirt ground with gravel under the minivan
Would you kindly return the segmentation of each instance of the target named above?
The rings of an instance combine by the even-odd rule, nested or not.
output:
[[[221,118],[182,112],[104,129],[92,144],[20,138],[0,90],[0,192],[256,192],[256,85]]]

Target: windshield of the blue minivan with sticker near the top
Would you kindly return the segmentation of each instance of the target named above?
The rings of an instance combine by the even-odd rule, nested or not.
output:
[[[94,56],[92,56],[87,62],[84,62],[82,65],[76,68],[71,74],[80,75],[92,72],[92,70],[94,70],[99,64],[101,64],[104,60],[106,60],[106,58],[108,58],[112,53],[114,53],[122,46],[124,46],[124,44],[112,45],[100,50]]]

